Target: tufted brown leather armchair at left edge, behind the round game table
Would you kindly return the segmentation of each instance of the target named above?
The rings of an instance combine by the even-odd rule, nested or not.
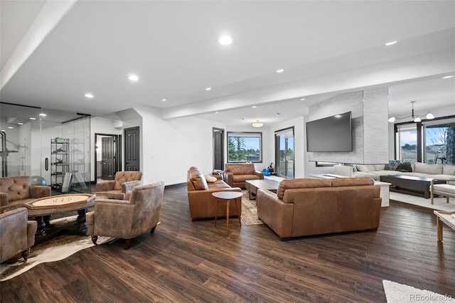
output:
[[[50,195],[50,186],[31,185],[31,176],[0,178],[0,213],[20,208],[23,203]]]

